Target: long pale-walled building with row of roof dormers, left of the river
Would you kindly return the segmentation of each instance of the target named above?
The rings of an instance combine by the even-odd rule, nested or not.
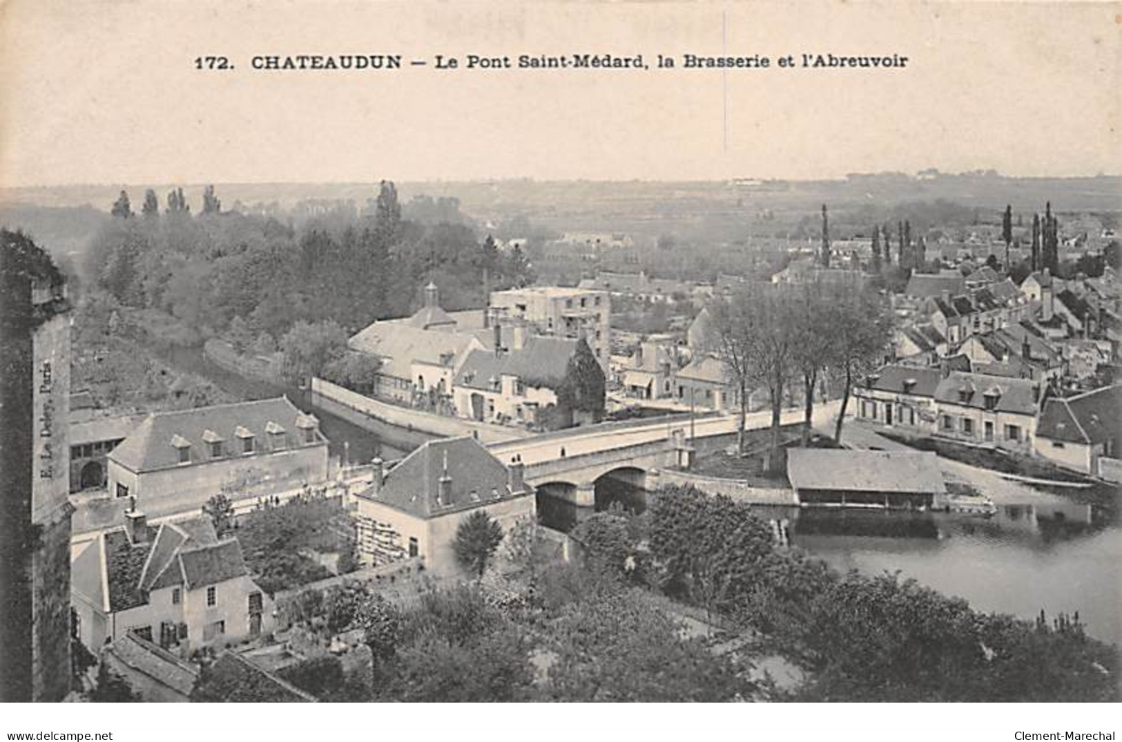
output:
[[[213,495],[276,494],[328,478],[328,439],[287,397],[148,415],[107,457],[109,495],[149,517],[197,512]]]

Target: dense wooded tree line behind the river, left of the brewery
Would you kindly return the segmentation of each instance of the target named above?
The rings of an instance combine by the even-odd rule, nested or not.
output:
[[[297,321],[353,331],[406,315],[429,281],[449,310],[484,305],[487,287],[533,281],[519,249],[500,251],[468,220],[453,220],[458,203],[421,205],[419,213],[444,221],[403,218],[396,187],[384,181],[364,209],[324,208],[297,228],[291,218],[223,211],[213,186],[197,214],[182,189],[163,210],[149,190],[139,213],[122,191],[84,276],[125,305],[174,314],[204,335],[240,319],[238,332],[248,326],[274,342]]]

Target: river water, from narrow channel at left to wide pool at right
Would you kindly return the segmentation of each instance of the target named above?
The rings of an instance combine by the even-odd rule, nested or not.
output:
[[[227,372],[201,348],[176,348],[164,360],[211,379],[241,399],[287,394],[313,411],[331,441],[333,456],[369,461],[401,458],[415,447],[405,431],[386,425],[378,433],[313,407],[309,394],[247,379]],[[611,498],[637,493],[616,485]],[[785,519],[791,542],[837,569],[876,575],[900,571],[946,595],[963,597],[985,612],[1033,619],[1074,614],[1087,632],[1122,644],[1122,529],[1091,505],[1064,501],[1004,504],[991,517],[948,513],[757,507],[761,517]]]

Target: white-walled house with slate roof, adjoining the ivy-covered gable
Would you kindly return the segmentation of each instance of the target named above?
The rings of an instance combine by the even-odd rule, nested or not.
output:
[[[534,336],[509,350],[472,350],[452,382],[457,414],[485,422],[545,422],[577,340]]]

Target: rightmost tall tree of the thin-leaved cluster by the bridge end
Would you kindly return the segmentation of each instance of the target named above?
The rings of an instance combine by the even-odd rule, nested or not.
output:
[[[892,314],[872,292],[847,292],[836,297],[825,331],[833,339],[830,367],[843,383],[834,439],[840,441],[842,424],[853,384],[881,366],[892,342]]]

